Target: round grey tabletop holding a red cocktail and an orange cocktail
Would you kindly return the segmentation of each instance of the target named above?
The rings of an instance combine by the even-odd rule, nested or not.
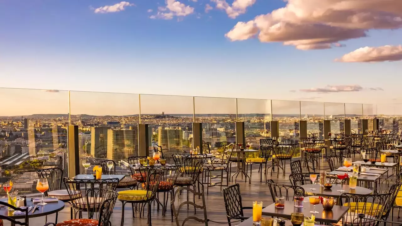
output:
[[[341,186],[342,186],[342,190],[344,190],[344,192],[338,191],[338,190],[340,190]],[[322,187],[318,184],[315,184],[314,188],[316,190],[310,190],[310,188],[313,187],[312,185],[301,185],[301,187],[304,189],[305,192],[313,193],[314,195],[329,196],[329,197],[335,197],[335,198],[340,197],[340,195],[343,193],[368,195],[368,194],[371,194],[371,192],[373,192],[368,188],[359,187],[359,186],[356,186],[355,189],[351,189],[349,187],[349,185],[332,185],[331,189],[325,189],[324,187]]]

